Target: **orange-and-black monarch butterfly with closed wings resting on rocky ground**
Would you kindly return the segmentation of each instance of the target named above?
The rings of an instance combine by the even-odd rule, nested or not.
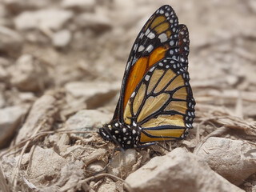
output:
[[[114,117],[99,129],[124,149],[185,138],[193,128],[188,69],[189,33],[171,6],[162,6],[136,38]]]

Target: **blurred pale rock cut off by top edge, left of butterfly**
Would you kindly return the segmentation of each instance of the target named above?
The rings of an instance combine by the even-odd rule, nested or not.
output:
[[[62,7],[75,11],[92,11],[96,5],[95,0],[63,0]]]

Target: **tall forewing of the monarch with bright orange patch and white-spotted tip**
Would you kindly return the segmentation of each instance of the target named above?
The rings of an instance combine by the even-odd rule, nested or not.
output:
[[[173,58],[179,61],[179,35],[181,27],[178,18],[170,6],[162,6],[142,27],[130,52],[126,70],[122,79],[120,99],[114,118],[124,122],[123,112],[126,104],[138,83],[150,67],[162,58]]]

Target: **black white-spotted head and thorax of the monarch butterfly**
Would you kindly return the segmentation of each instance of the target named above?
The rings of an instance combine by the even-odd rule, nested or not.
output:
[[[124,149],[138,146],[139,133],[137,127],[122,125],[118,122],[110,122],[99,129],[98,133],[106,141],[114,142]]]

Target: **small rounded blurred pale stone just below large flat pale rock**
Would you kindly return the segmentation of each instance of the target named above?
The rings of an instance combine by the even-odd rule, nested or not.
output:
[[[66,47],[71,40],[71,33],[69,30],[60,30],[52,37],[53,45],[57,48]]]

